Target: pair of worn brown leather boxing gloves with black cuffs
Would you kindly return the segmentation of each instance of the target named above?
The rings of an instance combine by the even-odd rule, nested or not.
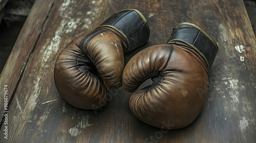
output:
[[[206,98],[209,69],[218,52],[216,42],[192,23],[180,23],[166,44],[137,53],[124,65],[124,53],[145,44],[150,29],[137,10],[111,15],[95,30],[71,41],[57,57],[54,81],[71,105],[95,109],[106,104],[105,87],[134,92],[130,109],[141,121],[179,129],[199,115]],[[168,124],[169,126],[165,126]]]

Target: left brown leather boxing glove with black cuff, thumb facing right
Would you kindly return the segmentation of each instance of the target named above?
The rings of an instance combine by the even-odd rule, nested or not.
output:
[[[54,67],[58,92],[78,108],[104,106],[103,83],[107,88],[122,85],[123,53],[145,44],[149,36],[147,22],[138,10],[111,15],[95,30],[76,37],[59,54]]]

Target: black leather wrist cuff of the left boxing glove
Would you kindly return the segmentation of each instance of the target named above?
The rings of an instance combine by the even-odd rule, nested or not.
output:
[[[124,52],[130,52],[145,44],[150,38],[150,29],[145,17],[135,9],[125,9],[111,15],[98,27],[110,27],[118,31],[127,41]]]

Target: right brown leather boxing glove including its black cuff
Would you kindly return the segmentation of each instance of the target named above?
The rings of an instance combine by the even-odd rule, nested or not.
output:
[[[218,45],[192,23],[180,23],[166,44],[148,47],[125,66],[122,84],[135,91],[130,109],[141,121],[163,129],[179,129],[199,115],[206,98],[209,69]],[[204,90],[204,92],[202,92]]]

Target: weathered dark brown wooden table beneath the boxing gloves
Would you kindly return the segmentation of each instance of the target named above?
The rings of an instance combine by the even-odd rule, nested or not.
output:
[[[110,100],[100,110],[75,108],[57,92],[53,67],[61,50],[127,8],[145,16],[151,36],[125,63],[145,47],[164,44],[180,22],[195,23],[218,43],[204,108],[188,127],[162,130],[141,122],[129,109],[132,93],[122,87],[108,90]],[[255,36],[241,0],[36,0],[0,76],[0,142],[253,142],[255,71]]]

